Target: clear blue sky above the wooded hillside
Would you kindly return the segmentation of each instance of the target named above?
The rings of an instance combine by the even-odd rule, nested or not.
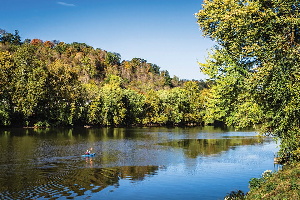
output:
[[[198,66],[214,43],[202,37],[193,15],[202,0],[2,1],[0,28],[25,38],[85,42],[142,58],[180,79],[207,78]]]

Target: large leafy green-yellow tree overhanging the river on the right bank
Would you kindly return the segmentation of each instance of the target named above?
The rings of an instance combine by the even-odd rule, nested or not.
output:
[[[300,1],[209,0],[196,13],[216,41],[201,68],[211,79],[219,119],[238,127],[262,123],[281,139],[279,154],[300,158]]]

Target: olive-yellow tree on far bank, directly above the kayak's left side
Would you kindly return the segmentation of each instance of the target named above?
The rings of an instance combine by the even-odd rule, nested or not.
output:
[[[57,60],[48,66],[46,116],[54,125],[73,125],[81,118],[87,92],[77,68]]]

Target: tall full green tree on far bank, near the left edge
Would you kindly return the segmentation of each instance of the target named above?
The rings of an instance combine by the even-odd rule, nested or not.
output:
[[[16,111],[21,112],[25,119],[39,112],[39,105],[45,97],[47,75],[35,56],[35,50],[32,45],[24,45],[13,54],[16,69],[12,80],[15,88],[12,100]]]

